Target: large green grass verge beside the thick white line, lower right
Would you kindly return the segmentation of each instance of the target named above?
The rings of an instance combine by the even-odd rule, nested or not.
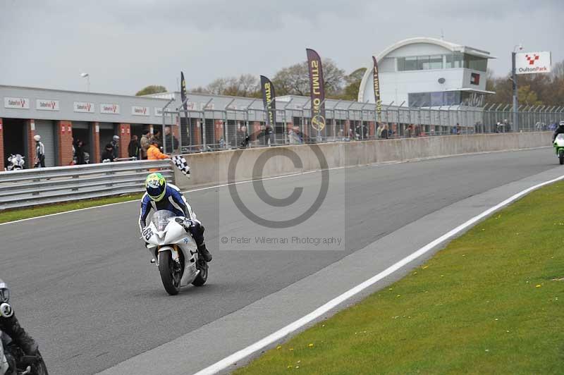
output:
[[[564,374],[563,189],[532,192],[235,374]]]

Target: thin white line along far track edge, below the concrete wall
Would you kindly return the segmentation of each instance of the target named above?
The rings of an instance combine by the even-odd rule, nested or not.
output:
[[[548,147],[548,146],[546,146]],[[469,156],[469,155],[481,155],[481,154],[495,154],[498,152],[515,152],[515,151],[528,151],[528,150],[532,150],[532,149],[543,149],[546,148],[545,146],[543,147],[531,147],[528,149],[510,149],[510,150],[501,150],[501,151],[484,151],[484,152],[470,152],[470,153],[466,153],[466,154],[456,154],[456,155],[439,155],[439,156],[430,156],[428,158],[419,158],[419,159],[410,159],[410,160],[399,160],[399,161],[383,161],[383,162],[377,162],[377,163],[371,163],[371,164],[360,164],[360,165],[356,165],[356,166],[336,166],[333,168],[327,168],[326,171],[336,171],[338,169],[345,169],[345,168],[357,168],[357,167],[363,167],[363,166],[386,166],[389,164],[403,164],[403,163],[410,163],[413,161],[425,161],[425,160],[433,160],[433,159],[445,159],[448,157],[453,157],[453,156]],[[197,189],[192,189],[192,190],[186,190],[184,193],[188,193],[188,192],[200,192],[203,190],[209,190],[209,189],[217,189],[219,187],[226,187],[229,185],[239,185],[239,184],[243,184],[243,183],[252,183],[253,181],[266,181],[266,180],[275,180],[276,178],[287,178],[287,177],[295,177],[295,176],[300,176],[300,175],[305,175],[308,173],[316,173],[316,172],[320,172],[321,169],[314,169],[312,171],[304,171],[304,172],[300,172],[300,173],[293,173],[290,175],[283,175],[283,176],[274,176],[274,177],[268,177],[268,178],[257,178],[255,180],[245,180],[245,181],[239,181],[239,182],[235,182],[235,183],[223,183],[220,185],[212,185],[212,186],[207,186],[207,187],[199,187]],[[324,170],[325,171],[325,170]],[[75,202],[75,201],[68,201],[68,202]],[[78,202],[80,202],[80,200],[78,200]],[[56,212],[55,214],[48,214],[48,215],[42,215],[42,216],[34,216],[34,217],[28,217],[26,219],[19,219],[19,220],[14,220],[14,221],[6,221],[6,223],[0,223],[0,226],[6,226],[8,224],[15,224],[15,223],[21,223],[23,221],[30,221],[30,220],[35,220],[35,219],[42,219],[45,217],[50,217],[50,216],[57,216],[57,215],[63,215],[63,214],[71,214],[73,212],[78,212],[78,211],[85,211],[87,209],[97,209],[100,207],[110,207],[110,206],[115,206],[117,204],[125,204],[125,203],[131,203],[131,202],[137,202],[137,199],[131,199],[131,200],[126,200],[125,202],[116,202],[116,203],[109,203],[109,204],[100,204],[99,206],[92,206],[92,207],[85,207],[82,209],[72,209],[70,211],[62,211],[62,212]],[[66,202],[61,202],[61,203],[66,203]]]

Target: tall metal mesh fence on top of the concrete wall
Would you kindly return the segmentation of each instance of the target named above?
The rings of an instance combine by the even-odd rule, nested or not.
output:
[[[180,154],[239,147],[265,147],[312,142],[374,140],[474,133],[506,133],[552,130],[564,120],[564,106],[520,106],[518,125],[513,124],[513,108],[505,104],[483,107],[439,106],[414,108],[384,105],[380,116],[374,104],[338,101],[326,105],[326,126],[318,131],[311,123],[311,108],[291,106],[291,100],[276,109],[276,125],[266,129],[266,111],[252,107],[223,109],[202,105],[200,110],[164,111],[167,123],[176,123],[179,147],[165,152]],[[256,102],[260,104],[259,101]],[[385,130],[382,133],[381,130]],[[249,143],[245,145],[248,137]],[[166,142],[166,140],[165,140]]]

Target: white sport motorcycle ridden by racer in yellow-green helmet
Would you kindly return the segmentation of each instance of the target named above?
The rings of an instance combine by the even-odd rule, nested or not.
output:
[[[156,211],[141,232],[169,295],[178,294],[180,287],[190,283],[202,286],[207,281],[207,263],[199,257],[192,235],[180,224],[184,220],[171,211]]]

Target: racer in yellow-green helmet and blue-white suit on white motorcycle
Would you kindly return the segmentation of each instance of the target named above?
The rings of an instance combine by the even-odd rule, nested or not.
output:
[[[141,199],[141,211],[139,216],[139,228],[142,231],[147,226],[147,216],[151,209],[159,211],[166,209],[172,211],[176,216],[184,216],[184,229],[192,234],[198,248],[198,252],[206,262],[212,260],[212,254],[206,248],[204,241],[204,226],[196,219],[192,207],[186,201],[180,189],[171,183],[166,183],[161,173],[151,173],[145,180],[147,192]]]

